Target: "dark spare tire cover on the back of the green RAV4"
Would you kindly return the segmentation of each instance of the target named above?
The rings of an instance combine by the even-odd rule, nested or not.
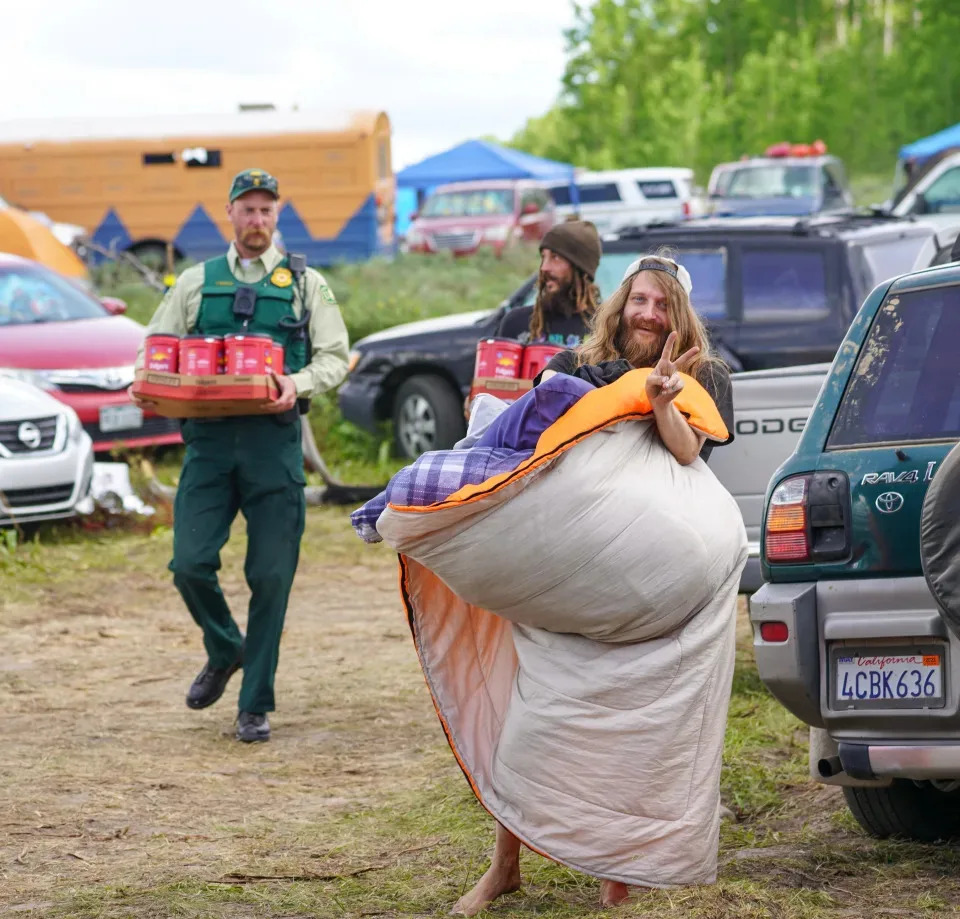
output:
[[[940,464],[923,500],[920,561],[941,614],[960,635],[960,444]]]

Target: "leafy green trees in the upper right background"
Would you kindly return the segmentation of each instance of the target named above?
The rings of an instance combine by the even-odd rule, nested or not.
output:
[[[960,0],[594,0],[574,5],[556,104],[511,144],[591,169],[711,167],[824,140],[891,177],[960,121]]]

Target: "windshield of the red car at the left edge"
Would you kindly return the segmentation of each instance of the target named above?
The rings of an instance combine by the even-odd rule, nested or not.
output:
[[[53,271],[25,265],[0,267],[0,327],[107,315],[96,300]]]

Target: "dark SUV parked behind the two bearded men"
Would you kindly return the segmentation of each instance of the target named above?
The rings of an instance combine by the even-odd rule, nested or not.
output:
[[[673,250],[693,278],[693,302],[733,370],[833,360],[860,302],[884,278],[909,271],[936,229],[871,216],[728,218],[627,228],[604,239],[597,272],[609,295],[637,255]],[[445,449],[464,432],[463,403],[477,342],[507,310],[532,303],[525,280],[496,309],[397,326],[354,345],[340,389],[345,418],[374,430],[393,421],[397,452]]]

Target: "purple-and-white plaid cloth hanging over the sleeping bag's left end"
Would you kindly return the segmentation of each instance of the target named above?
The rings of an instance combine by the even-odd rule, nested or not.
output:
[[[404,466],[386,489],[350,515],[364,542],[380,542],[377,520],[388,504],[426,507],[450,497],[464,485],[478,485],[491,476],[516,469],[532,450],[473,447],[469,450],[432,450]]]

